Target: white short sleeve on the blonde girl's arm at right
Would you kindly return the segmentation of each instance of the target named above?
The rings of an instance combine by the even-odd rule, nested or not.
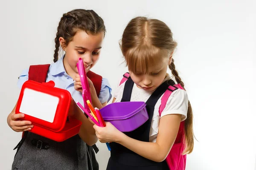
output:
[[[188,103],[189,98],[186,91],[177,89],[169,96],[161,117],[169,114],[181,114],[181,121],[185,120],[188,112]]]

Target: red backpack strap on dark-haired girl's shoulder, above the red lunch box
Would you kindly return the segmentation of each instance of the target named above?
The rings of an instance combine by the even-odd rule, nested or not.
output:
[[[29,67],[29,80],[35,82],[45,82],[49,70],[49,64],[45,65],[30,65]]]

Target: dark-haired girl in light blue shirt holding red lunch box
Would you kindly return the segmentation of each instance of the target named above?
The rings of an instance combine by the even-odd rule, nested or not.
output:
[[[69,116],[80,120],[82,125],[78,135],[64,142],[55,142],[29,132],[33,128],[32,122],[19,121],[24,114],[15,114],[15,106],[7,118],[8,125],[16,132],[26,132],[26,135],[16,147],[12,170],[99,170],[92,149],[98,139],[93,123],[74,102],[84,103],[81,92],[74,88],[74,80],[78,75],[76,63],[82,58],[100,103],[104,106],[111,99],[108,80],[90,71],[99,59],[105,32],[104,21],[93,10],[75,9],[63,14],[55,38],[54,63],[49,66],[46,82],[53,80],[55,87],[70,92],[73,100]],[[64,51],[64,56],[58,56],[60,49]],[[36,66],[39,68],[40,65]],[[22,72],[17,83],[19,88],[31,79],[32,74],[39,73],[33,72],[31,66]],[[38,141],[41,144],[39,149]]]

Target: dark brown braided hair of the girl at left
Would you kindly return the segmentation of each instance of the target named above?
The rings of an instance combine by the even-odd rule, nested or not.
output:
[[[93,10],[74,9],[63,14],[55,37],[54,62],[58,61],[59,38],[63,37],[65,44],[62,44],[62,46],[67,46],[73,40],[76,32],[80,30],[92,35],[100,32],[104,32],[105,35],[106,32],[104,21]]]

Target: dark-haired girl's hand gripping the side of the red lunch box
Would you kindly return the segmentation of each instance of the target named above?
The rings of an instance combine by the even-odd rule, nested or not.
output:
[[[19,120],[19,118],[23,118],[24,114],[23,113],[17,113],[12,112],[9,114],[7,117],[7,123],[9,127],[12,128],[15,132],[23,132],[23,131],[28,131],[31,130],[33,127],[32,122],[26,121],[26,120]]]

